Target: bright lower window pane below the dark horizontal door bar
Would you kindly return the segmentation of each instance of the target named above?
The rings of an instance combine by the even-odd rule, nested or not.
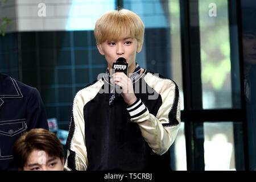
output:
[[[205,171],[236,170],[232,122],[204,123]]]

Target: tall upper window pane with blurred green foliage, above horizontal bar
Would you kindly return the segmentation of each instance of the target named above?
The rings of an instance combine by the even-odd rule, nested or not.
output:
[[[228,1],[199,0],[203,108],[232,107]]]

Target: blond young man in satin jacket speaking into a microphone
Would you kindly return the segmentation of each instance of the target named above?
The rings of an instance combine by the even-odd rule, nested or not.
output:
[[[108,69],[80,90],[73,102],[67,140],[67,170],[170,169],[170,153],[180,126],[179,89],[174,81],[135,62],[144,24],[129,10],[109,11],[94,28],[97,48]],[[129,77],[113,73],[124,57]],[[114,85],[122,93],[113,94]]]

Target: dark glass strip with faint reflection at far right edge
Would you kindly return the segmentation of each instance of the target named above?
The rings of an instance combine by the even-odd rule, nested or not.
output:
[[[241,1],[249,169],[256,169],[256,2]]]

